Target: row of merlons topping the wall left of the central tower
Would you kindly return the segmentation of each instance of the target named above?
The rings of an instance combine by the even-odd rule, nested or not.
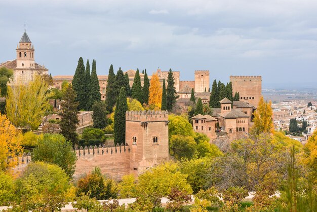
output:
[[[121,154],[121,153],[129,153],[130,147],[128,144],[124,145],[123,143],[121,145],[116,144],[116,146],[113,147],[106,147],[105,145],[98,147],[95,145],[94,147],[75,147],[74,149],[76,156],[79,158],[92,158],[95,155],[112,155],[112,154]]]

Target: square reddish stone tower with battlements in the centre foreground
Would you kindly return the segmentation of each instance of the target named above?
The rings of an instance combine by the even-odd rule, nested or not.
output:
[[[126,144],[130,147],[130,172],[138,175],[169,157],[168,112],[126,113]]]

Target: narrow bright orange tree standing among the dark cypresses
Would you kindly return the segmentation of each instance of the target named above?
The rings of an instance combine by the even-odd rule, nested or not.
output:
[[[149,95],[148,95],[148,103],[151,105],[155,105],[155,107],[161,109],[162,105],[162,87],[159,81],[159,77],[156,74],[152,75],[150,81]]]

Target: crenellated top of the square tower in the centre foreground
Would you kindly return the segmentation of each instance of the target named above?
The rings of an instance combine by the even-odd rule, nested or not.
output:
[[[157,122],[168,121],[168,111],[127,111],[126,121],[135,122]]]

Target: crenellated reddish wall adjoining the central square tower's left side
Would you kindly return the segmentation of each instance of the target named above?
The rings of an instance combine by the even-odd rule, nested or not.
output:
[[[96,166],[104,174],[120,180],[130,173],[130,147],[123,144],[116,147],[80,147],[75,149],[77,155],[74,177],[92,171]]]

